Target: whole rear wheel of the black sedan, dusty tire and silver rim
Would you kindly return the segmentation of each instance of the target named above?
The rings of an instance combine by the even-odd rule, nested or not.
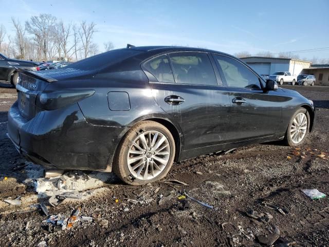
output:
[[[143,185],[167,175],[175,157],[170,131],[155,121],[142,121],[123,137],[113,170],[126,184]]]

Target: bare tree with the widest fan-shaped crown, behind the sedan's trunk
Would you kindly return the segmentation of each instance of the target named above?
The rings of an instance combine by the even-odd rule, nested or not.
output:
[[[32,16],[31,20],[25,23],[26,30],[34,35],[34,41],[41,47],[45,60],[47,60],[47,54],[52,53],[53,40],[51,38],[54,35],[55,23],[56,17],[51,14]]]

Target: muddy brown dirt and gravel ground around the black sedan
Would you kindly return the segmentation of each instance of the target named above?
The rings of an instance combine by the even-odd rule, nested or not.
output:
[[[5,135],[7,111],[16,92],[6,83],[0,87],[0,177],[8,178],[0,181],[2,246],[36,246],[43,240],[48,246],[66,247],[263,246],[261,237],[270,238],[276,227],[280,238],[275,246],[329,245],[328,197],[310,200],[301,191],[318,189],[329,195],[329,87],[284,86],[312,99],[317,108],[315,129],[300,150],[276,142],[174,164],[167,179],[188,186],[158,182],[134,187],[114,176],[92,197],[66,199],[57,207],[51,207],[48,198],[36,195],[32,183],[26,183],[27,163]],[[187,198],[179,200],[184,192],[213,208]],[[170,193],[173,198],[159,205],[159,199]],[[22,196],[21,206],[3,202],[17,196]],[[127,198],[140,202],[133,204]],[[67,217],[78,207],[83,216],[100,210],[108,227],[96,221],[78,221],[68,230],[53,233],[47,226],[26,230],[28,221],[40,223],[47,217],[40,210],[17,211],[30,210],[29,205],[38,202],[45,202],[50,214]],[[182,210],[187,202],[189,208]],[[265,207],[264,202],[284,212]],[[249,217],[251,209],[265,217]]]

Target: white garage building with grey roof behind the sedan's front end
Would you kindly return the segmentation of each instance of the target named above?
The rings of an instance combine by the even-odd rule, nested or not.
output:
[[[298,76],[304,68],[309,68],[311,62],[291,58],[246,57],[242,61],[252,67],[258,74],[268,76],[276,72],[290,72]]]

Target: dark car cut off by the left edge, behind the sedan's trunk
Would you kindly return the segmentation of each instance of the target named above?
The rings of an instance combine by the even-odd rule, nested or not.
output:
[[[0,80],[7,81],[16,86],[18,74],[16,68],[36,70],[38,63],[18,59],[10,59],[0,54]]]

